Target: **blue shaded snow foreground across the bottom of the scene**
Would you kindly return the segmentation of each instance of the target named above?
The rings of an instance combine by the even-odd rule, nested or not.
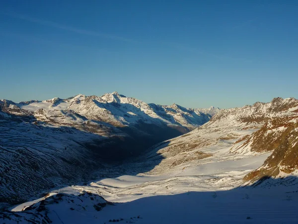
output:
[[[274,181],[274,180],[271,180]],[[22,212],[0,213],[0,222],[53,224],[296,224],[297,194],[291,187],[155,195],[109,203],[96,194],[46,196]],[[274,195],[274,197],[273,197]],[[257,207],[257,208],[256,208]],[[1,218],[2,217],[2,218]]]

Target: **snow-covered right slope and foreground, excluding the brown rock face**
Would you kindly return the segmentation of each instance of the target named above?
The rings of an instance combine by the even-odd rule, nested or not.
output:
[[[252,151],[250,145],[243,149],[244,137],[256,133],[268,117],[297,115],[292,110],[297,107],[297,100],[294,104],[288,99],[278,101],[278,106],[274,99],[268,104],[224,110],[198,129],[151,147],[138,161],[99,171],[108,177],[109,173],[118,173],[119,177],[55,189],[52,193],[62,195],[59,197],[63,200],[58,201],[50,194],[51,201],[58,203],[44,203],[42,208],[41,201],[18,205],[11,210],[20,211],[27,206],[29,209],[4,213],[10,218],[4,222],[32,221],[34,217],[41,221],[46,217],[53,223],[64,224],[107,224],[114,220],[138,224],[296,224],[297,171],[285,173],[283,179],[243,181],[272,153]],[[279,107],[285,102],[293,107]],[[280,129],[275,132],[280,133]],[[92,204],[94,195],[114,204],[105,201]],[[84,200],[80,201],[81,197]],[[94,205],[98,204],[102,206],[96,210]]]

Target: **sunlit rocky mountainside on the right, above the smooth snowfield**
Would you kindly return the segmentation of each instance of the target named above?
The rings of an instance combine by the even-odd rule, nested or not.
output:
[[[265,175],[275,177],[280,171],[289,174],[297,170],[297,123],[298,100],[275,98],[270,103],[221,110],[192,132],[152,146],[146,156],[165,158],[155,168],[158,172],[207,157],[234,160],[273,152],[245,180],[256,181]]]

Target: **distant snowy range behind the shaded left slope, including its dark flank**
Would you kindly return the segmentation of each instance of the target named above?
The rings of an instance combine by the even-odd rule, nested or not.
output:
[[[101,97],[76,95],[18,104],[0,101],[2,112],[35,124],[74,127],[105,137],[125,136],[140,153],[154,143],[179,136],[206,123],[220,109],[187,109],[179,105],[146,104],[114,92]],[[129,154],[126,154],[129,155]],[[125,153],[121,156],[125,156]]]

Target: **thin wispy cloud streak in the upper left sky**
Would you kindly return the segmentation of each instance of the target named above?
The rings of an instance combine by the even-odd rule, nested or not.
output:
[[[22,14],[15,13],[15,12],[0,12],[0,13],[3,15],[7,15],[9,17],[22,19],[22,20],[37,23],[40,25],[63,29],[63,30],[78,33],[78,34],[102,37],[102,38],[107,38],[107,39],[112,39],[112,40],[120,40],[120,41],[131,42],[131,43],[139,43],[140,42],[137,40],[133,40],[133,39],[129,39],[129,38],[121,37],[121,36],[115,36],[112,34],[100,33],[100,32],[90,31],[90,30],[86,30],[86,29],[79,29],[79,28],[72,27],[72,26],[66,26],[66,25],[63,25],[60,23],[43,20],[43,19],[39,19],[39,18],[33,18],[33,17],[27,16],[27,15],[22,15]]]

